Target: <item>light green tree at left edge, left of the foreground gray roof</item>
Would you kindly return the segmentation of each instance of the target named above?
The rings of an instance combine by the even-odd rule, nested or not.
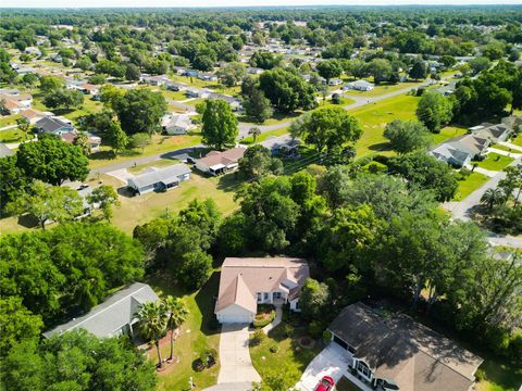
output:
[[[38,338],[44,323],[41,316],[33,314],[22,303],[20,297],[2,297],[0,299],[0,357],[22,340]]]

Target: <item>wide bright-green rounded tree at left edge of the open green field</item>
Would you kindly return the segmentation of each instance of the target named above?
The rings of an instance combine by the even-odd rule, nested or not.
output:
[[[295,137],[302,137],[318,152],[357,141],[362,135],[359,122],[343,108],[321,108],[296,119],[290,126]]]

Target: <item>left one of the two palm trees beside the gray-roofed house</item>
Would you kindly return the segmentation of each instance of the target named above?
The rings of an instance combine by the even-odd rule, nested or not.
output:
[[[145,337],[154,342],[158,351],[158,367],[161,368],[163,363],[161,361],[160,338],[166,330],[167,321],[161,302],[157,301],[140,304],[135,316],[141,325]]]

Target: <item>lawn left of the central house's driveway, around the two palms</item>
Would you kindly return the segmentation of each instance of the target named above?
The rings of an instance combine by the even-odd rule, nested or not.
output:
[[[192,362],[207,349],[219,351],[219,330],[210,329],[210,319],[214,313],[213,297],[217,294],[219,274],[214,273],[207,285],[197,292],[187,292],[175,285],[169,274],[151,276],[147,282],[160,295],[181,297],[188,307],[187,321],[182,326],[182,332],[174,342],[174,354],[179,362],[158,374],[158,390],[189,390],[188,380],[191,377],[195,390],[202,390],[217,381],[220,369],[217,365],[201,373],[192,370]],[[170,345],[162,346],[163,357],[170,353]],[[156,363],[156,349],[149,351],[149,357]]]

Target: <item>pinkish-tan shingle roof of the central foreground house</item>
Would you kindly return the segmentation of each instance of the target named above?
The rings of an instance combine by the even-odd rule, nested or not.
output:
[[[221,267],[215,312],[237,304],[256,313],[257,293],[285,289],[296,297],[310,276],[307,261],[291,257],[227,257]],[[290,282],[286,283],[285,282]]]

